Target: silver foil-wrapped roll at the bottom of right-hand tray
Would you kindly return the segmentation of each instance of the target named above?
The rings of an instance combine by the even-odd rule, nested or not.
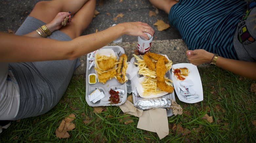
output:
[[[147,110],[152,108],[170,108],[171,100],[167,97],[143,98],[136,102],[134,106],[141,110]]]

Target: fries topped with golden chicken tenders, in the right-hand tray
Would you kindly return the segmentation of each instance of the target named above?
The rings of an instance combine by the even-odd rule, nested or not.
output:
[[[172,68],[172,61],[156,53],[146,53],[144,56],[135,56],[140,75],[145,76],[144,81],[141,82],[143,87],[143,95],[158,94],[163,91],[172,93],[172,80],[165,77],[165,73]]]

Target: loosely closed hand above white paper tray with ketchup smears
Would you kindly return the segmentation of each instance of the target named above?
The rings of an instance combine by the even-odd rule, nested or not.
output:
[[[213,53],[207,52],[204,49],[188,50],[186,54],[189,62],[196,66],[210,63],[214,56]]]

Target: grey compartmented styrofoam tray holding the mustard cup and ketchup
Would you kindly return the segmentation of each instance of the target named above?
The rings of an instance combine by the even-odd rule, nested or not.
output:
[[[124,49],[120,46],[105,46],[102,47],[100,49],[112,49],[115,52],[115,55],[117,56],[117,59],[119,59],[119,56],[121,56],[122,54],[124,54]],[[89,57],[90,54],[87,54],[87,57]],[[86,62],[86,76],[85,76],[85,83],[86,83],[86,88],[85,88],[85,100],[87,102],[87,104],[89,106],[118,106],[123,104],[126,99],[127,99],[127,86],[126,83],[121,84],[117,81],[116,78],[112,78],[111,80],[108,80],[105,84],[100,83],[100,82],[96,82],[96,84],[89,84],[89,74],[91,73],[95,73],[95,69],[94,66],[89,70],[89,66],[90,66],[90,61],[87,60]],[[123,89],[124,90],[124,94],[119,94],[120,95],[120,103],[117,104],[110,104],[109,97],[109,90],[110,89]],[[99,89],[100,91],[102,91],[105,95],[104,98],[102,98],[100,101],[97,101],[96,103],[90,102],[89,101],[89,97],[88,95],[90,95],[94,90]]]

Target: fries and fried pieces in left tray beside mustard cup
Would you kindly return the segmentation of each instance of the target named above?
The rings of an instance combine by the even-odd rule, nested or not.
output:
[[[110,55],[95,55],[95,64],[94,68],[97,71],[98,81],[105,84],[109,79],[115,77],[117,73],[117,68],[115,65],[117,64],[116,56]]]

